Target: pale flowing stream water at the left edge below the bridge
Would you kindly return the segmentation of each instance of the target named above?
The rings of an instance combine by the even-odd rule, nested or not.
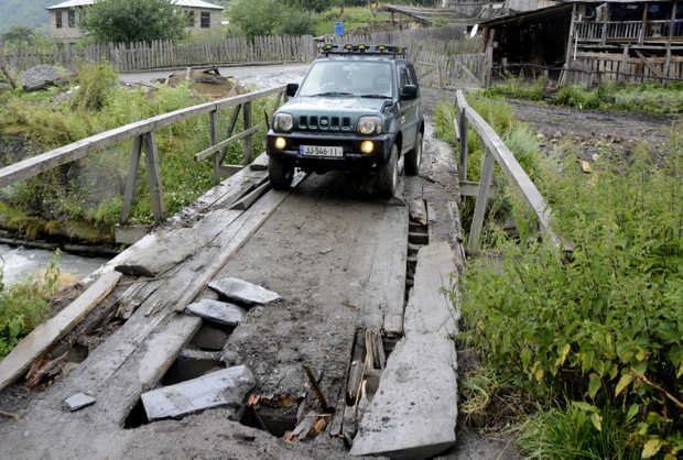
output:
[[[15,248],[0,244],[0,256],[2,258],[0,265],[2,265],[4,272],[2,282],[9,285],[25,278],[36,270],[47,267],[54,256],[54,252],[44,249]],[[61,273],[71,273],[78,280],[83,280],[106,262],[108,262],[108,259],[84,258],[62,252],[58,265]]]

